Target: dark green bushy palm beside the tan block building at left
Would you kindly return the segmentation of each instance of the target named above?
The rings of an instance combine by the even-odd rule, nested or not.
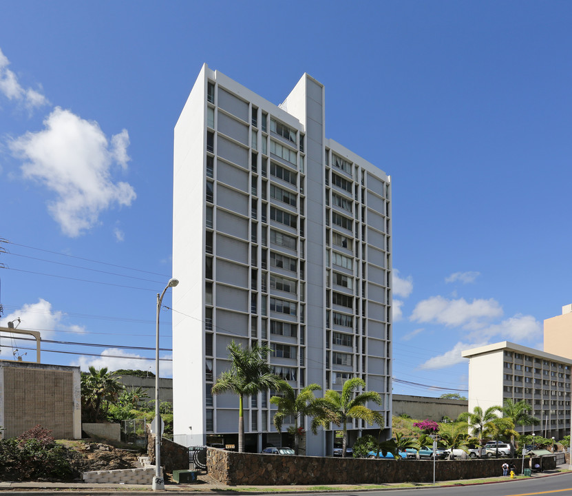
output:
[[[100,416],[101,406],[117,400],[121,386],[114,375],[107,371],[107,367],[97,370],[89,366],[89,372],[81,377],[81,397],[87,415],[91,413],[91,420],[96,422]],[[107,408],[106,408],[107,409]]]

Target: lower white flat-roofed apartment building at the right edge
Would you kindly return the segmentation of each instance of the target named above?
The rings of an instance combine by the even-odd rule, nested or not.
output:
[[[556,440],[569,435],[572,360],[508,341],[462,355],[469,358],[469,411],[524,400],[541,423],[516,426],[516,431]]]

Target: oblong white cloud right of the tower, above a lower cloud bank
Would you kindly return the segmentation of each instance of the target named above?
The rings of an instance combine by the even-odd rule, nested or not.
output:
[[[469,303],[464,298],[447,300],[443,296],[432,296],[416,304],[410,320],[476,329],[483,327],[484,320],[500,316],[502,307],[493,298]]]

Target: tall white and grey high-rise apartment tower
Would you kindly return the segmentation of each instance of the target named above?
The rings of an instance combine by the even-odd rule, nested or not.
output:
[[[237,397],[211,394],[233,340],[270,347],[273,370],[295,389],[363,378],[383,398],[376,409],[390,435],[390,177],[325,137],[324,105],[324,86],[308,74],[275,105],[204,65],[176,124],[173,407],[182,444],[236,444]],[[285,442],[270,395],[245,401],[247,451]],[[348,427],[350,438],[368,428]],[[333,431],[308,433],[306,453],[331,454],[333,444]]]

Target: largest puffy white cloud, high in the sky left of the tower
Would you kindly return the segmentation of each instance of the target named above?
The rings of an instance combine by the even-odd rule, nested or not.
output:
[[[10,143],[22,158],[24,178],[37,180],[56,194],[48,205],[64,234],[76,237],[98,222],[114,204],[131,205],[136,198],[129,183],[114,183],[112,166],[127,167],[126,130],[111,138],[98,123],[88,122],[56,107],[45,118],[45,129],[28,132]]]

